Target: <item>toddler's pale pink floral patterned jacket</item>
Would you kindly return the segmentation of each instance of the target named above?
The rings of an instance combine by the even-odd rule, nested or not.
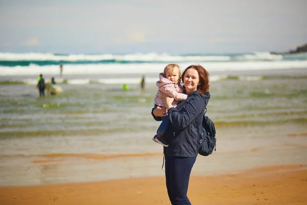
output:
[[[188,97],[186,94],[182,93],[183,89],[180,85],[180,78],[177,83],[173,83],[172,81],[164,77],[163,73],[160,73],[160,80],[157,81],[156,85],[158,86],[158,92],[155,97],[155,105],[161,105],[165,107],[161,99],[161,92],[174,98],[174,101],[172,103],[173,107],[177,106],[178,101],[185,100]]]

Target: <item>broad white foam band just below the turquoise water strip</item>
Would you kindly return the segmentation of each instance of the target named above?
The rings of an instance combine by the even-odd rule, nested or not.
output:
[[[186,62],[179,64],[184,68],[195,62]],[[273,69],[305,69],[307,60],[300,61],[232,61],[232,62],[206,62],[202,63],[209,72],[217,71],[248,71],[248,70],[273,70]],[[82,74],[149,74],[160,73],[163,71],[165,64],[86,64],[86,65],[65,65],[63,75],[82,75]],[[0,75],[58,75],[59,67],[51,66],[0,66]]]

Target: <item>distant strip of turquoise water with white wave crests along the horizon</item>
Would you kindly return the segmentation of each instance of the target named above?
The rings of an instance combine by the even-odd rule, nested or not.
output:
[[[167,62],[231,62],[231,61],[302,61],[307,54],[276,55],[269,52],[238,54],[54,54],[54,53],[0,53],[0,67],[29,67],[31,65],[87,65],[87,64],[144,64]]]

